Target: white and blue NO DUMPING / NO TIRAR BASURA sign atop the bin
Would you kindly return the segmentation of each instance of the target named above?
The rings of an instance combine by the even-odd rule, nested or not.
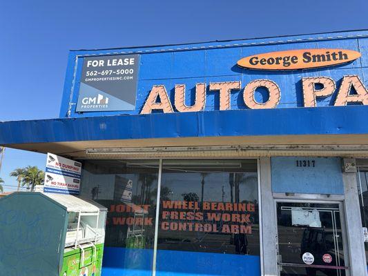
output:
[[[45,193],[78,195],[80,182],[81,163],[48,152],[43,186]]]

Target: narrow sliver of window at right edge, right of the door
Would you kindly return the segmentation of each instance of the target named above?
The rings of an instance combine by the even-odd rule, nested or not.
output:
[[[368,229],[368,160],[358,160],[358,174],[356,179],[358,182],[358,196],[360,204],[360,215],[362,216],[363,230]],[[365,259],[368,268],[368,242],[364,243]]]

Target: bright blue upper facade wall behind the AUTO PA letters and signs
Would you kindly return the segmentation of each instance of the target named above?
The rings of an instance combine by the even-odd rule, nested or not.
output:
[[[195,43],[178,46],[153,46],[146,48],[121,48],[113,50],[80,50],[70,52],[64,97],[60,117],[94,117],[106,115],[137,115],[142,110],[149,92],[154,85],[164,85],[173,104],[175,84],[186,85],[186,97],[194,94],[195,83],[207,84],[205,110],[219,110],[218,92],[209,90],[212,81],[242,81],[242,90],[246,83],[254,79],[270,79],[278,84],[281,100],[276,108],[294,108],[303,106],[302,77],[331,77],[340,86],[344,75],[359,75],[365,81],[363,68],[367,68],[368,32],[340,32],[331,34],[313,34],[297,37],[278,37],[270,39],[245,39]],[[329,68],[291,71],[261,71],[240,68],[236,62],[242,57],[262,52],[306,48],[342,48],[357,50],[362,57],[351,63]],[[115,112],[75,112],[79,91],[79,76],[83,59],[90,55],[141,55],[137,84],[137,106],[133,111]],[[75,63],[77,62],[77,64]],[[242,90],[231,93],[231,109],[247,109],[242,99]],[[338,89],[332,96],[318,100],[318,106],[331,106]],[[71,95],[71,97],[70,97]],[[72,99],[69,101],[69,99]],[[262,98],[262,97],[261,97]],[[260,99],[261,99],[260,98]],[[188,101],[192,102],[192,101]],[[175,110],[175,106],[174,111]]]

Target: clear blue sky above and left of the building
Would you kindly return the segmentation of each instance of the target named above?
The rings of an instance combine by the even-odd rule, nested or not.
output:
[[[70,49],[368,29],[367,0],[0,3],[0,121],[58,117]],[[0,177],[45,159],[7,149]]]

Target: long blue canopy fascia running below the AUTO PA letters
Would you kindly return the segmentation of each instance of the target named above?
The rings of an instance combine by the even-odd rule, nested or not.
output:
[[[258,135],[368,134],[368,106],[227,110],[0,124],[0,144]]]

